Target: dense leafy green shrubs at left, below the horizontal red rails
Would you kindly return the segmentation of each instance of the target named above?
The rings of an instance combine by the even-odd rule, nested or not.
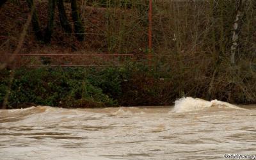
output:
[[[3,70],[1,73],[0,102],[2,104],[8,88],[8,75],[4,76],[4,73],[8,73],[8,70]],[[98,86],[93,86],[90,83],[93,81],[92,76],[88,81],[87,73],[87,70],[82,68],[20,68],[15,70],[8,105],[10,108],[19,107],[24,103],[62,107],[117,106],[116,100],[103,93],[98,87],[102,84],[98,83]],[[106,81],[104,76],[95,78]]]

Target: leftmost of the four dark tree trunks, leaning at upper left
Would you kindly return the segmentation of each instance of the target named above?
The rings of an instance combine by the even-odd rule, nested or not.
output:
[[[26,0],[29,10],[31,11],[32,14],[32,25],[33,25],[33,31],[35,31],[35,36],[37,40],[43,40],[43,35],[42,31],[40,29],[40,22],[38,19],[37,12],[35,10],[35,4],[33,3],[33,0]]]

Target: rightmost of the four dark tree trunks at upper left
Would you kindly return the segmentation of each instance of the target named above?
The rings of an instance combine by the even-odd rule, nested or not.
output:
[[[79,41],[84,40],[84,27],[83,23],[81,22],[78,8],[77,8],[77,0],[72,0],[71,1],[71,9],[72,9],[72,19],[74,21],[74,29],[75,29],[75,34],[76,38]]]

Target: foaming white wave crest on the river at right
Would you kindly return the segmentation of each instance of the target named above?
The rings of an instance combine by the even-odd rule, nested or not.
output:
[[[175,106],[173,111],[176,113],[199,111],[207,108],[227,108],[227,109],[242,109],[234,104],[228,102],[222,102],[220,100],[207,101],[204,99],[194,99],[192,97],[183,97],[175,100]]]

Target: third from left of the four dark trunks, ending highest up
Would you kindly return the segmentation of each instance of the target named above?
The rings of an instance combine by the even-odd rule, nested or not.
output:
[[[57,0],[58,10],[59,10],[59,17],[60,17],[60,24],[62,28],[67,33],[72,33],[72,28],[70,26],[70,23],[68,22],[67,14],[65,12],[65,7],[63,4],[63,0]]]

